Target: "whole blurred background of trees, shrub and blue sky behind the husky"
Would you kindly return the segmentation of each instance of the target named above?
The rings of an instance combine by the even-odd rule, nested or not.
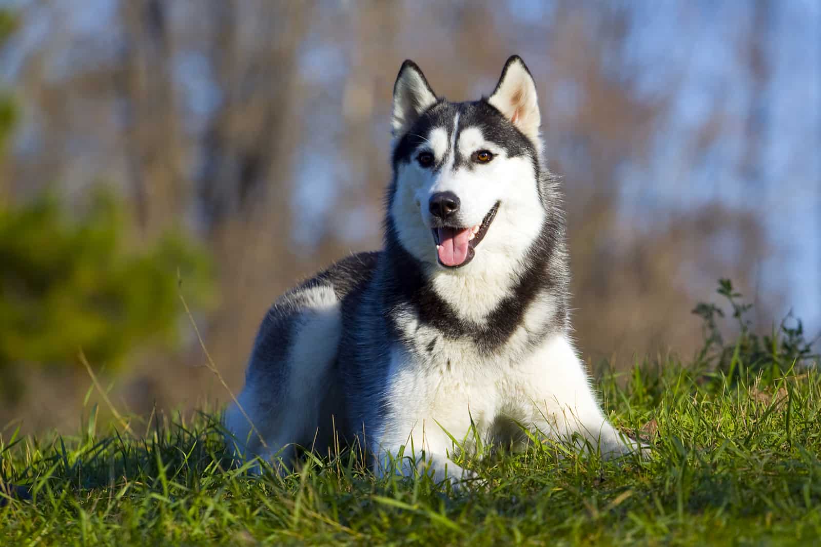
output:
[[[393,80],[452,100],[511,53],[566,189],[576,335],[626,366],[701,340],[730,277],[821,330],[815,0],[17,0],[0,16],[0,431],[238,390],[266,308],[377,248]]]

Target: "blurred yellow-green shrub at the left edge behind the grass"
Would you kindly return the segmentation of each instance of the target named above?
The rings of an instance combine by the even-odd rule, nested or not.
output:
[[[0,206],[0,378],[13,365],[72,366],[78,349],[110,369],[144,344],[172,346],[178,276],[192,307],[213,303],[213,268],[196,244],[167,233],[139,248],[104,191],[85,209],[70,217],[53,195]]]

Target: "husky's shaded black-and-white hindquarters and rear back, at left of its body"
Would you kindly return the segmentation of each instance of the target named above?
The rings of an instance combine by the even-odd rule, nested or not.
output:
[[[344,308],[368,285],[378,256],[344,258],[283,294],[268,310],[240,404],[226,414],[232,433],[228,444],[237,455],[268,459],[279,454],[287,462],[294,444],[320,453],[333,445],[333,428],[339,434],[344,426],[345,401],[337,377]]]

